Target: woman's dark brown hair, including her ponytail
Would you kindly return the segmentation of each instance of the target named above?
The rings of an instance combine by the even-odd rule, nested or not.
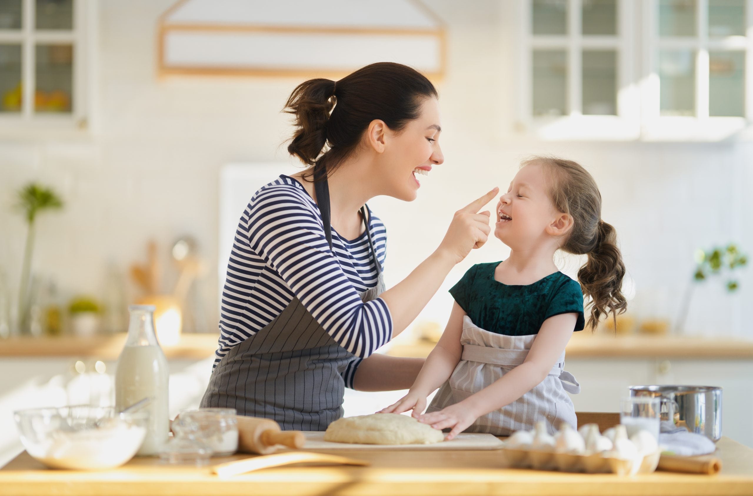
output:
[[[431,96],[437,90],[424,75],[391,62],[362,67],[340,81],[303,81],[285,103],[296,127],[288,152],[309,166],[306,179],[322,167],[329,175],[352,155],[371,121],[400,131]]]

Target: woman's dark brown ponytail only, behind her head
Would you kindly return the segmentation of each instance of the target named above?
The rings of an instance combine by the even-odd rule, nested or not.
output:
[[[285,103],[285,112],[295,115],[296,127],[288,153],[306,165],[316,164],[327,144],[327,121],[334,107],[334,90],[335,81],[309,79],[298,84]]]

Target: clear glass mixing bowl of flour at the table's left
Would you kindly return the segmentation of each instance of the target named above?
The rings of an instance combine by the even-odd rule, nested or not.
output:
[[[62,406],[14,412],[26,452],[50,468],[120,467],[146,436],[148,412],[117,413],[102,406]]]

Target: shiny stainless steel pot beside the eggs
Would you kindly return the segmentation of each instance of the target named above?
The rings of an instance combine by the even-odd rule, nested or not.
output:
[[[666,398],[662,421],[672,421],[717,442],[721,438],[721,387],[630,386],[630,396]]]

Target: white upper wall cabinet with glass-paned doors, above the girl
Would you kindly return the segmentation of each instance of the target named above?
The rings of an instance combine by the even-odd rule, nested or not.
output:
[[[753,120],[753,0],[518,0],[517,127],[719,141]]]

